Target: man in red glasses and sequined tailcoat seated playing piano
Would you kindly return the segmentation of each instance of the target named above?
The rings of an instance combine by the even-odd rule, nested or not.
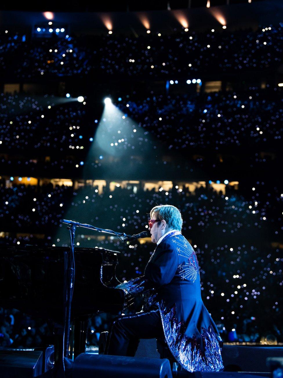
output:
[[[189,372],[219,371],[221,338],[202,302],[199,265],[181,233],[181,213],[175,206],[155,206],[148,223],[156,248],[144,275],[118,285],[126,294],[144,293],[146,301],[141,312],[113,322],[105,354],[134,356],[139,339],[163,338]]]

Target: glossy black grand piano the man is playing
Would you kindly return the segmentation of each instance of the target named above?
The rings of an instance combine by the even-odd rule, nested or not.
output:
[[[119,314],[125,308],[125,293],[115,288],[120,283],[115,275],[118,254],[103,248],[74,249],[70,348],[69,340],[67,343],[70,358],[85,351],[90,317],[99,311]],[[67,247],[0,246],[0,305],[49,321],[54,332],[55,366],[64,364],[66,280],[71,255]]]

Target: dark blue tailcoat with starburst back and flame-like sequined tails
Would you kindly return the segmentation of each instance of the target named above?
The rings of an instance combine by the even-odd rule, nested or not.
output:
[[[202,302],[196,253],[181,232],[167,235],[156,247],[144,276],[128,282],[128,290],[146,291],[148,307],[158,306],[168,347],[188,371],[223,368],[220,336]]]

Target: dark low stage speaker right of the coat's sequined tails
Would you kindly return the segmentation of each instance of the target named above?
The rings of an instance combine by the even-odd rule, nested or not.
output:
[[[283,347],[223,344],[222,359],[225,372],[270,373],[269,357],[283,357]]]

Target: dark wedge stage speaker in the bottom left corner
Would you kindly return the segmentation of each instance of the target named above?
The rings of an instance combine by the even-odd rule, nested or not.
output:
[[[31,378],[41,374],[40,350],[0,350],[1,378]]]

